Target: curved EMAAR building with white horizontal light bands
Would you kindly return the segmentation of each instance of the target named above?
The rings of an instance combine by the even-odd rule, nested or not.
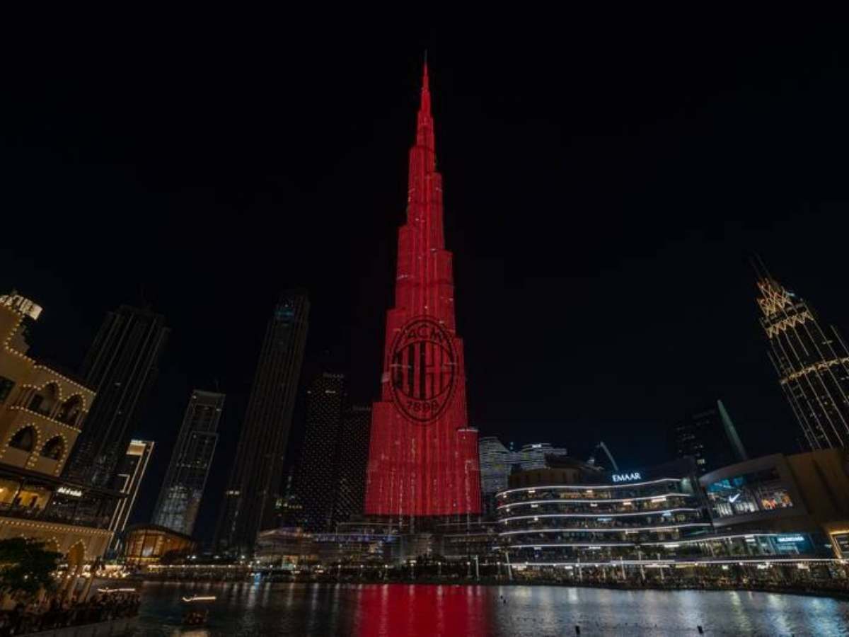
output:
[[[616,473],[558,464],[516,473],[498,493],[499,545],[511,563],[656,559],[712,530],[692,460]]]

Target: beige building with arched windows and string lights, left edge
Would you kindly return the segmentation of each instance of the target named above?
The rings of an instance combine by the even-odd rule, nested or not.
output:
[[[42,540],[70,573],[103,555],[121,493],[61,477],[95,393],[27,355],[41,307],[0,296],[0,539]]]

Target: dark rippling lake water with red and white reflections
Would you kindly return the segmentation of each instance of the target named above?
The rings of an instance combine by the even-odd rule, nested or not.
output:
[[[555,586],[145,583],[139,635],[849,635],[849,602],[748,592]],[[216,595],[181,630],[183,595]],[[501,600],[503,595],[506,603]]]

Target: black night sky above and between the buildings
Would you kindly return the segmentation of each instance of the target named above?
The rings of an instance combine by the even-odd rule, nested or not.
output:
[[[310,291],[306,373],[350,371],[353,399],[376,397],[424,48],[481,434],[580,457],[604,440],[627,468],[722,398],[750,454],[796,450],[748,256],[849,334],[840,25],[557,22],[254,16],[21,42],[0,99],[0,290],[45,307],[31,352],[76,369],[121,303],[172,329],[135,432],[158,445],[136,521],[190,390],[217,386],[208,534],[281,290]]]

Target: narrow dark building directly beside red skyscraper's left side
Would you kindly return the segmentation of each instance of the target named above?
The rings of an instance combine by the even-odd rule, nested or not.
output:
[[[339,434],[339,479],[336,487],[334,520],[348,521],[363,513],[368,466],[368,434],[371,408],[352,405],[342,414]]]

